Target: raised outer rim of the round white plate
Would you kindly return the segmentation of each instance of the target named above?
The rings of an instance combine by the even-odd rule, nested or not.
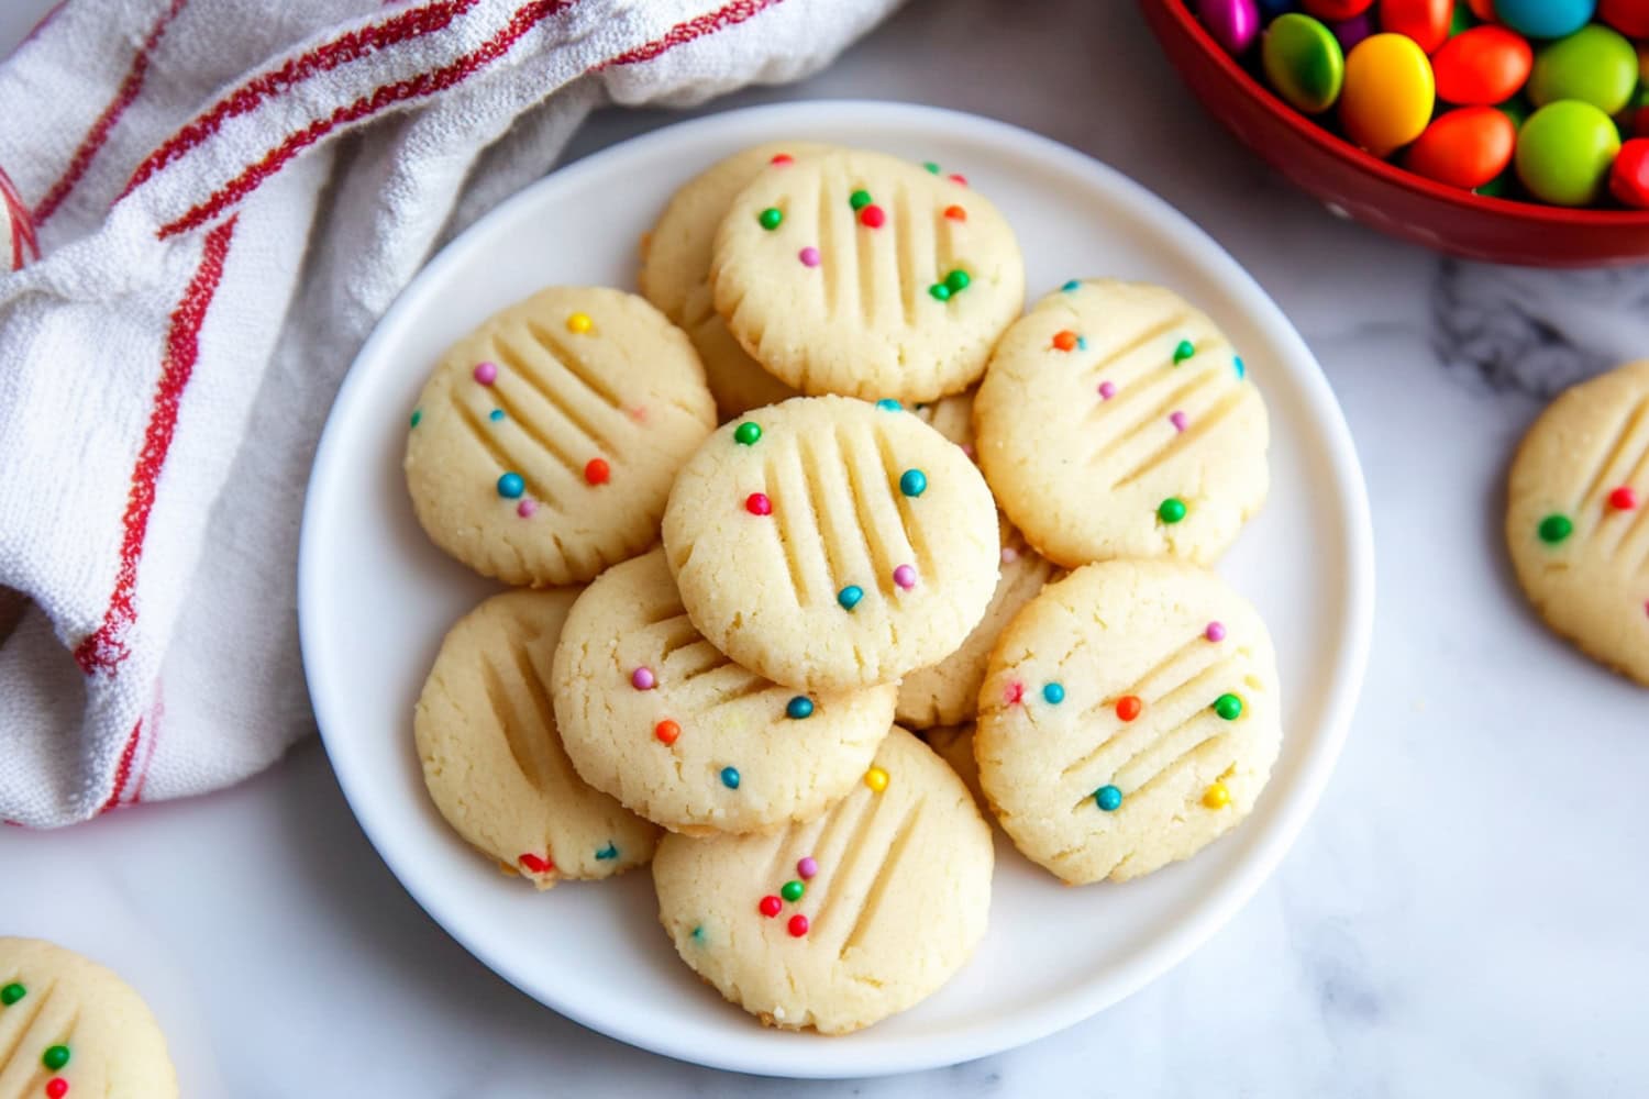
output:
[[[1339,512],[1336,526],[1344,532],[1346,554],[1341,562],[1344,573],[1344,618],[1346,629],[1339,634],[1339,654],[1334,661],[1332,684],[1326,690],[1322,705],[1324,718],[1313,738],[1313,750],[1301,760],[1296,784],[1280,806],[1280,814],[1273,832],[1260,837],[1248,858],[1240,862],[1232,872],[1232,878],[1224,883],[1217,896],[1184,918],[1154,939],[1148,947],[1130,957],[1113,970],[1108,980],[1095,980],[1075,985],[1069,994],[1045,1000],[1034,1008],[1021,1010],[1006,1020],[975,1025],[960,1031],[948,1031],[933,1038],[912,1040],[899,1048],[866,1048],[859,1055],[851,1051],[851,1040],[821,1043],[820,1055],[811,1059],[800,1059],[793,1048],[780,1050],[767,1058],[749,1058],[724,1055],[714,1048],[694,1046],[684,1040],[671,1040],[668,1031],[648,1028],[645,1023],[632,1022],[622,1012],[608,1015],[589,1010],[576,998],[556,995],[554,989],[528,989],[513,974],[501,951],[472,939],[458,928],[452,926],[444,913],[437,911],[439,903],[425,901],[420,888],[412,882],[417,875],[402,865],[394,853],[392,837],[379,834],[383,822],[374,822],[374,812],[363,807],[364,788],[356,789],[353,779],[335,763],[331,737],[325,718],[330,690],[333,690],[333,672],[327,669],[317,654],[320,646],[318,611],[308,611],[322,598],[318,550],[315,549],[320,519],[315,501],[323,493],[318,491],[327,471],[338,463],[333,455],[343,443],[341,428],[336,428],[333,414],[345,405],[356,386],[363,381],[378,358],[378,346],[391,339],[392,330],[401,326],[402,313],[411,308],[411,302],[422,293],[422,287],[447,275],[450,267],[460,265],[460,257],[467,250],[472,236],[483,231],[493,219],[508,216],[514,208],[538,201],[544,189],[557,189],[576,185],[582,176],[597,173],[608,161],[635,157],[638,152],[650,152],[655,145],[688,142],[699,135],[712,135],[722,127],[754,122],[767,124],[770,129],[806,127],[810,124],[839,124],[851,120],[851,115],[874,115],[877,124],[932,127],[935,130],[953,132],[958,129],[973,130],[970,137],[983,137],[988,143],[999,145],[1008,153],[1032,153],[1045,160],[1057,161],[1072,176],[1080,178],[1095,189],[1105,193],[1121,193],[1128,201],[1149,208],[1154,224],[1174,237],[1181,237],[1200,247],[1209,274],[1214,275],[1233,298],[1257,306],[1266,315],[1265,326],[1275,330],[1280,343],[1290,349],[1290,358],[1301,362],[1301,369],[1288,367],[1299,386],[1299,394],[1308,414],[1319,425],[1324,450],[1329,456],[1329,473],[1336,488],[1336,509]],[[1303,369],[1309,362],[1313,369]],[[470,226],[444,244],[432,255],[406,287],[396,295],[389,308],[373,325],[373,331],[361,344],[359,353],[345,372],[338,392],[327,410],[327,422],[322,428],[320,442],[303,489],[303,516],[298,532],[298,575],[297,575],[297,615],[298,643],[302,651],[305,684],[310,705],[315,713],[315,725],[327,748],[328,763],[338,778],[338,786],[355,816],[356,824],[366,834],[368,842],[378,852],[384,865],[394,875],[402,890],[434,919],[442,931],[452,936],[477,961],[486,966],[495,975],[519,989],[534,1002],[557,1012],[559,1015],[607,1035],[625,1045],[646,1050],[678,1061],[701,1064],[734,1073],[755,1073],[763,1076],[788,1076],[806,1079],[846,1079],[872,1074],[914,1073],[932,1068],[960,1064],[984,1056],[1004,1053],[1021,1045],[1045,1038],[1073,1027],[1098,1012],[1118,1003],[1158,977],[1164,975],[1182,962],[1192,951],[1207,942],[1220,928],[1253,898],[1258,888],[1270,880],[1283,857],[1293,849],[1306,821],[1316,811],[1318,802],[1332,776],[1334,766],[1344,750],[1355,715],[1357,700],[1362,692],[1364,677],[1369,666],[1369,652],[1374,636],[1374,521],[1369,507],[1369,494],[1357,458],[1351,427],[1344,410],[1336,399],[1321,362],[1283,313],[1281,306],[1260,287],[1260,283],[1232,257],[1219,242],[1209,236],[1191,216],[1158,196],[1144,185],[1135,181],[1123,171],[1083,153],[1064,142],[1054,140],[1026,127],[948,107],[927,104],[892,102],[877,99],[805,99],[780,104],[762,104],[717,110],[696,119],[671,122],[645,133],[625,138],[607,148],[582,157],[569,165],[554,168],[541,180],[524,186],[503,203],[488,209]],[[338,733],[341,737],[341,733]]]

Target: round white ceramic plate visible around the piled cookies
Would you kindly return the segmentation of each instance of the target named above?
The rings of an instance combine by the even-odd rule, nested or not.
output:
[[[658,926],[650,875],[538,895],[498,873],[424,793],[411,713],[447,626],[491,588],[419,531],[401,478],[407,415],[440,351],[546,283],[633,287],[637,241],[688,176],[747,145],[806,138],[961,171],[1012,222],[1029,292],[1065,278],[1167,283],[1242,351],[1271,412],[1271,499],[1222,572],[1276,638],[1286,733],[1243,827],[1123,886],[1067,888],[998,842],[991,929],[917,1008],[848,1038],[763,1030],[701,984]],[[1299,334],[1191,221],[1047,138],[932,107],[811,102],[673,125],[574,163],[453,241],[379,323],[331,409],[298,564],[303,664],[361,827],[414,898],[506,980],[602,1033],[686,1061],[783,1076],[951,1064],[1069,1027],[1219,929],[1299,832],[1339,755],[1369,646],[1374,550],[1339,405]],[[754,911],[754,910],[752,910]]]

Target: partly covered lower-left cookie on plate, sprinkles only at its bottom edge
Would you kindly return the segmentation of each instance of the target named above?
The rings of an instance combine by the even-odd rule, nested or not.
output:
[[[556,728],[551,662],[577,595],[506,592],[465,615],[412,713],[440,816],[541,890],[640,867],[658,840],[656,827],[585,786]]]

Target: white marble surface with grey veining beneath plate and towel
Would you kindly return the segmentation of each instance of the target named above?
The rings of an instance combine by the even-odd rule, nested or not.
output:
[[[41,7],[8,0],[0,44]],[[917,0],[818,79],[716,107],[813,96],[976,110],[1116,165],[1222,241],[1321,358],[1374,499],[1374,661],[1321,809],[1247,910],[1131,1000],[1014,1053],[773,1084],[620,1046],[493,977],[391,878],[310,740],[224,794],[7,829],[0,933],[140,984],[190,1096],[1649,1091],[1649,694],[1540,629],[1499,537],[1539,409],[1524,390],[1649,353],[1595,308],[1639,283],[1486,275],[1334,221],[1196,109],[1120,0]],[[574,153],[673,117],[599,117]]]

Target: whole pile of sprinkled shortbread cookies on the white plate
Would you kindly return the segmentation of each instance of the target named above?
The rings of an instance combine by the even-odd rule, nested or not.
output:
[[[1248,814],[1276,669],[1207,565],[1266,417],[1209,318],[1113,280],[1024,313],[963,176],[803,143],[686,183],[640,285],[511,305],[412,414],[424,529],[518,585],[414,713],[472,845],[538,888],[651,860],[688,966],[843,1033],[973,954],[981,806],[1070,883]]]

